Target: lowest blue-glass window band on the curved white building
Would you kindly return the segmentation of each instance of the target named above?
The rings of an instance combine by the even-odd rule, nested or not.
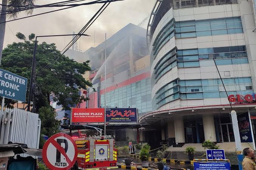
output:
[[[252,94],[251,77],[222,79],[230,94]],[[175,99],[225,98],[221,79],[174,80],[160,88],[153,97],[153,110]]]

